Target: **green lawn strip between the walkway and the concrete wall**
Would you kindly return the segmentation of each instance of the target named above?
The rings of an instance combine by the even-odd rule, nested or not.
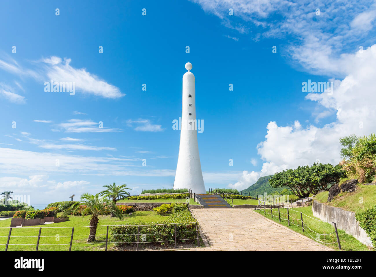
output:
[[[299,212],[294,212],[293,210],[297,210]],[[326,222],[312,219],[312,218],[315,218],[312,214],[312,207],[302,207],[302,208],[293,209],[293,210],[289,209],[290,221],[292,222],[290,223],[289,228],[291,230],[294,230],[297,233],[303,234],[304,236],[309,237],[310,239],[319,240],[323,245],[326,245],[329,248],[339,250],[336,234],[332,233],[335,231],[334,226]],[[262,216],[265,216],[263,209],[261,209],[261,212],[259,212],[258,210],[255,212],[260,213]],[[266,212],[271,213],[270,209],[266,209]],[[302,222],[300,221],[300,212],[305,214],[303,215],[303,222],[309,228],[311,228],[311,230],[309,230],[304,225],[305,231],[303,232]],[[278,218],[278,209],[273,209],[273,219],[271,219],[271,215],[268,215],[268,214],[266,214],[266,217],[271,220],[274,220],[275,222],[279,224],[282,224],[288,227],[287,215],[284,215],[282,213],[287,213],[287,209],[280,209],[281,222],[279,222],[279,218]],[[306,215],[311,216],[312,218],[309,218]],[[332,233],[332,234],[323,236],[323,235],[317,235],[313,231],[319,234],[329,234],[329,233]],[[345,231],[343,230],[338,229],[338,236],[340,237],[341,248],[343,251],[370,251],[370,249],[368,249],[366,245],[359,242],[359,240],[355,239],[355,237],[349,234],[346,234]],[[332,243],[332,242],[335,242],[335,243],[325,244],[325,243]]]

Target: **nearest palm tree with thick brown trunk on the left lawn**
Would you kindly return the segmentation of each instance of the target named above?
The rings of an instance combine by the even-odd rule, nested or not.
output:
[[[73,204],[69,209],[65,210],[63,216],[68,216],[70,214],[74,215],[80,209],[81,205],[85,207],[81,212],[83,218],[87,214],[91,215],[89,223],[90,234],[87,242],[92,242],[95,240],[100,215],[106,215],[110,212],[112,215],[117,216],[120,220],[123,219],[123,213],[121,213],[121,211],[118,209],[115,202],[111,201],[111,199],[100,198],[99,193],[96,195],[84,193],[81,195],[81,200],[79,202]]]

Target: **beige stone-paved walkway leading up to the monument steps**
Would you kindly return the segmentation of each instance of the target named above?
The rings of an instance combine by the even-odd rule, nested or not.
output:
[[[192,209],[205,248],[188,251],[334,251],[252,209]]]

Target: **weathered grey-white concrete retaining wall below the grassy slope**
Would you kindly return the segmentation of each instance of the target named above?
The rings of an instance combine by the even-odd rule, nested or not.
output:
[[[364,229],[359,226],[359,222],[355,219],[354,212],[344,211],[317,201],[313,201],[312,212],[313,216],[323,221],[335,222],[338,229],[344,230],[363,244],[373,247],[370,237],[367,236],[367,233],[365,233]]]

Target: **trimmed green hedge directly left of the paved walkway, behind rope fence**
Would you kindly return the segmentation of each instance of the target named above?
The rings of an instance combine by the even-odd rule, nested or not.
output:
[[[185,223],[193,222],[193,223]],[[153,224],[168,225],[150,225],[150,222],[133,222],[129,225],[116,225],[110,227],[111,236],[109,241],[117,242],[117,246],[129,246],[137,242],[137,225],[147,225],[139,227],[139,242],[150,245],[152,242],[155,245],[174,244],[175,239],[175,224],[177,233],[177,243],[197,243],[196,235],[196,220],[192,217],[188,210],[173,213],[167,220],[153,222]]]

